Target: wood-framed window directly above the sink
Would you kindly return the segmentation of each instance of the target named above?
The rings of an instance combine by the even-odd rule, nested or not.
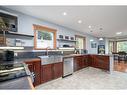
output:
[[[34,49],[56,49],[57,30],[44,26],[33,25]]]

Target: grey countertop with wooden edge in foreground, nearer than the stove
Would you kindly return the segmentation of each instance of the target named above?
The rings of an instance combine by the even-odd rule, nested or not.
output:
[[[13,79],[9,81],[5,81],[0,83],[0,89],[8,90],[8,89],[34,89],[32,85],[32,81],[29,76],[22,77],[18,79]]]

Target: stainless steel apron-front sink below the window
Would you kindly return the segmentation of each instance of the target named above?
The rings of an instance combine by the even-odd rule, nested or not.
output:
[[[41,64],[52,64],[52,63],[58,63],[63,61],[62,55],[47,55],[47,56],[39,56],[41,58]]]

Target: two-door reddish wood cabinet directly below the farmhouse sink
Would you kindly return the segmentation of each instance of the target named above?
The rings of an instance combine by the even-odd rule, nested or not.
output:
[[[41,83],[48,82],[50,80],[62,77],[63,75],[63,63],[53,63],[41,66]]]

